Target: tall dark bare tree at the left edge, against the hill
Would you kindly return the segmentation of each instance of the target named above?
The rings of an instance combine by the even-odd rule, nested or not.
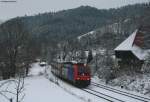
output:
[[[2,24],[0,32],[2,48],[0,60],[4,63],[2,74],[4,79],[8,79],[15,77],[17,67],[24,63],[29,34],[19,18]]]

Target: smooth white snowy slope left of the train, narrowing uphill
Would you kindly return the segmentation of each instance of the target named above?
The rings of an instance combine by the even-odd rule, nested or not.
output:
[[[45,67],[40,67],[39,63],[32,65],[30,77],[25,79],[26,90],[24,92],[26,95],[23,102],[82,102],[81,99],[65,92],[61,87],[45,78],[42,75],[44,72]],[[0,95],[0,102],[8,102],[8,100]]]

